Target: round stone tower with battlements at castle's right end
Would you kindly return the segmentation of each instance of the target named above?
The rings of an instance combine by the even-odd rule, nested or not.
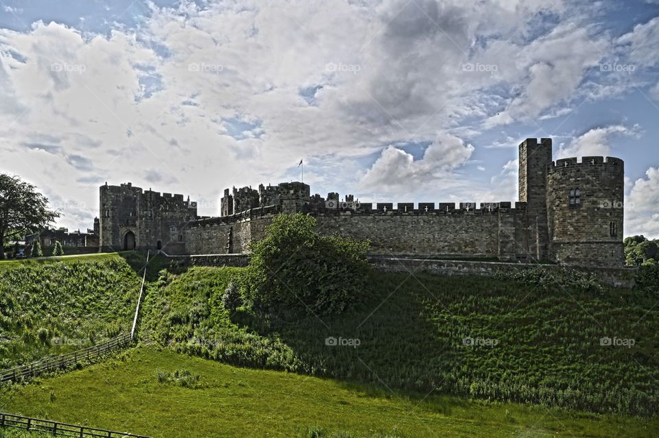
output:
[[[551,163],[547,215],[551,260],[562,265],[622,267],[625,165],[586,156]]]

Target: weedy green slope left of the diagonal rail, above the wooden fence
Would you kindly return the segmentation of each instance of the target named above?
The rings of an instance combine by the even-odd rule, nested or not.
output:
[[[130,330],[141,264],[140,254],[0,262],[0,368]],[[54,345],[58,337],[71,345]]]

